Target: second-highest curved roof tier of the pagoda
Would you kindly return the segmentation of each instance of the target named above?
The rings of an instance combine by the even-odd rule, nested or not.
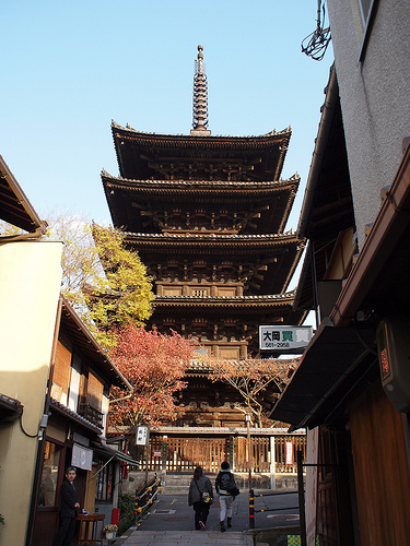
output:
[[[262,182],[129,180],[102,174],[113,224],[128,232],[161,232],[155,223],[147,228],[145,210],[206,210],[227,206],[237,212],[260,211],[254,233],[282,233],[285,228],[300,178]]]

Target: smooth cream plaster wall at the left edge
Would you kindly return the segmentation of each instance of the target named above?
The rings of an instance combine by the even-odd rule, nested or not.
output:
[[[23,404],[22,425],[33,436],[44,411],[61,250],[57,241],[0,246],[0,392]],[[37,447],[19,420],[0,427],[0,546],[25,544]]]

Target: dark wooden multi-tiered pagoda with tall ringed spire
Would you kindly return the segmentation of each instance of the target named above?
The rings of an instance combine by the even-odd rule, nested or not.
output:
[[[304,248],[285,224],[297,175],[282,180],[291,130],[213,136],[198,46],[190,134],[140,132],[113,121],[120,176],[102,180],[115,227],[154,282],[148,324],[200,341],[201,352],[258,354],[260,324],[300,324],[286,287]]]

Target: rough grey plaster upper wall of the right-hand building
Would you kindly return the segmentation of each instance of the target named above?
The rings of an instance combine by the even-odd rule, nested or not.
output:
[[[358,64],[363,27],[358,0],[328,0],[335,64],[352,181],[359,246],[374,222],[380,189],[393,182],[410,135],[410,3],[384,0]]]

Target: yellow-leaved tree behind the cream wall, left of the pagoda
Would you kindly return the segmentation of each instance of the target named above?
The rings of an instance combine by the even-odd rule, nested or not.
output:
[[[47,222],[46,237],[63,241],[61,293],[101,345],[115,345],[113,325],[144,325],[152,313],[152,283],[138,253],[124,247],[121,232],[70,213],[51,213]],[[20,233],[0,223],[1,235]]]

